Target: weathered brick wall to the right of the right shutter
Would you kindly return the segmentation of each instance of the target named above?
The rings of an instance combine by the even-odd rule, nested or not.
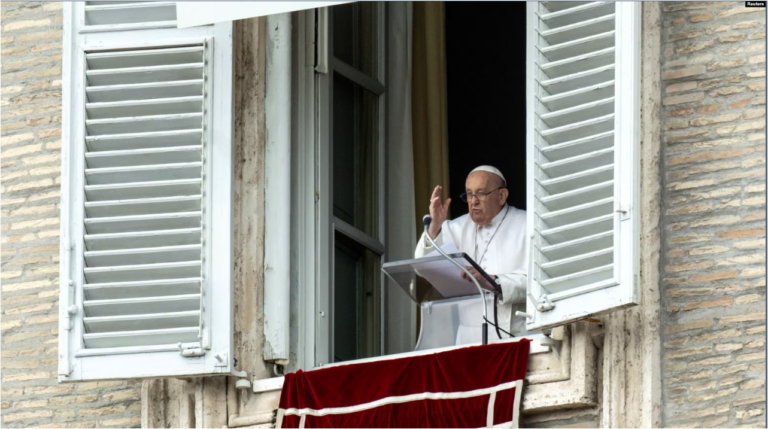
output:
[[[765,9],[663,11],[664,427],[765,428]]]

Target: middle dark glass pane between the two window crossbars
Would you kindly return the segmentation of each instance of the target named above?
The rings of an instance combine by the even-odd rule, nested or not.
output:
[[[333,75],[333,214],[378,239],[378,100]]]

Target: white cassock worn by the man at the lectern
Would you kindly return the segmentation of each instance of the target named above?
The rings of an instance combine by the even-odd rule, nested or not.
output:
[[[505,211],[506,217],[505,217]],[[434,240],[438,246],[453,242],[460,252],[466,253],[490,275],[499,276],[501,283],[501,306],[499,307],[499,325],[509,330],[512,322],[512,306],[523,304],[524,310],[526,281],[528,274],[528,240],[526,239],[526,213],[512,206],[506,206],[490,224],[476,225],[468,214],[454,220],[443,222],[440,234]],[[415,257],[421,258],[432,247],[422,234],[416,245]],[[479,302],[478,302],[479,308]],[[482,315],[482,309],[479,309]],[[489,308],[488,317],[491,318]],[[493,327],[489,327],[493,332]],[[473,330],[474,331],[474,330]],[[479,330],[478,330],[479,333]],[[476,336],[476,332],[459,333]],[[495,334],[493,334],[495,335]],[[490,337],[490,335],[489,335]],[[469,338],[467,338],[469,340]],[[457,339],[461,341],[461,338]]]

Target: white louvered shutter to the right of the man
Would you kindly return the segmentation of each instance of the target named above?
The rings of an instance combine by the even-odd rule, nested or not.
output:
[[[640,2],[528,2],[528,329],[638,302]]]

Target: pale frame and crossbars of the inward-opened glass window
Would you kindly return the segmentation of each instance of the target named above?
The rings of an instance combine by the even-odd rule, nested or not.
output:
[[[385,4],[377,2],[377,38],[378,38],[378,79],[364,78],[364,88],[375,85],[378,80],[378,204],[380,213],[386,213],[386,94],[385,91]],[[332,294],[333,284],[333,236],[336,231],[353,235],[356,228],[334,221],[331,189],[331,107],[332,77],[338,68],[332,57],[332,34],[330,29],[329,7],[296,12],[294,40],[296,43],[293,87],[296,89],[293,100],[296,107],[292,110],[294,125],[292,129],[291,187],[293,192],[291,222],[295,225],[291,236],[292,251],[291,284],[297,291],[296,303],[292,311],[296,316],[297,326],[292,326],[291,349],[295,350],[296,359],[292,359],[288,371],[312,369],[332,361]],[[336,67],[334,67],[334,65]],[[344,67],[344,65],[342,65]],[[347,65],[344,71],[351,67]],[[344,77],[360,84],[354,76]],[[357,75],[359,76],[359,75]],[[374,88],[375,89],[375,88]],[[327,107],[322,107],[327,106]],[[379,216],[379,239],[362,237],[355,240],[365,248],[372,249],[386,261],[386,218]],[[354,240],[354,237],[350,237]],[[358,237],[361,238],[361,237]],[[368,240],[366,240],[366,238]],[[361,242],[365,241],[365,242]],[[380,287],[379,341],[384,350],[384,322],[386,295],[384,275],[378,273]],[[293,338],[296,338],[295,340]]]

